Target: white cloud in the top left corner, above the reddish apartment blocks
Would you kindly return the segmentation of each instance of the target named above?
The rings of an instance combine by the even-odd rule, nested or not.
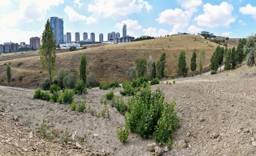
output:
[[[46,11],[52,6],[63,4],[64,0],[20,0],[19,2],[20,4],[17,10],[2,14],[0,17],[2,26],[15,26],[22,22],[45,20]]]

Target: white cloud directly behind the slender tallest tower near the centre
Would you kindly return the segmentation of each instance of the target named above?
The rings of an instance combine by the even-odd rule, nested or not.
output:
[[[120,31],[122,31],[124,24],[127,26],[127,35],[130,36],[134,35],[134,31],[143,29],[138,20],[123,20],[121,23],[117,23],[115,28],[118,28]]]

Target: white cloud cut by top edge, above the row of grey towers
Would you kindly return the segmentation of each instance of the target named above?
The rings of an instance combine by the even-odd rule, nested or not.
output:
[[[127,18],[129,14],[152,10],[152,6],[144,0],[95,0],[88,5],[88,11],[96,17]]]

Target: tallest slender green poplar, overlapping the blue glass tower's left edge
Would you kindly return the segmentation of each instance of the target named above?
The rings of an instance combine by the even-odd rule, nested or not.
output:
[[[47,69],[50,85],[52,84],[52,79],[56,66],[56,45],[53,35],[53,27],[50,25],[50,20],[48,19],[45,24],[45,30],[42,34],[42,46],[40,48],[40,62],[42,69]]]

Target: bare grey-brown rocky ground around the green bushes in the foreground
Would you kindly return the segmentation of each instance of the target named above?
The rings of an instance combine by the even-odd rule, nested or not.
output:
[[[153,85],[152,90],[160,87],[165,92],[167,102],[177,102],[176,110],[182,123],[174,135],[173,148],[162,155],[255,156],[255,77],[256,68],[246,68],[176,79],[176,83],[170,85],[164,81]],[[114,89],[116,96],[121,96],[120,89]],[[100,98],[109,91],[93,88],[87,94],[75,96],[77,103],[86,100],[86,111],[77,113],[68,105],[33,100],[34,90],[0,86],[0,122],[3,125],[0,127],[0,153],[154,155],[148,150],[148,144],[154,143],[152,139],[142,139],[131,133],[126,143],[117,140],[116,127],[124,123],[124,117],[110,106],[110,102],[107,103],[109,118],[90,114],[89,107],[97,113],[104,108]],[[18,121],[13,119],[16,116]],[[42,139],[38,132],[43,119],[59,134],[53,141]],[[77,135],[68,144],[60,144],[59,139],[65,135],[66,128],[69,135]],[[84,135],[84,142],[79,142],[78,137]],[[158,146],[158,151],[164,150]]]

